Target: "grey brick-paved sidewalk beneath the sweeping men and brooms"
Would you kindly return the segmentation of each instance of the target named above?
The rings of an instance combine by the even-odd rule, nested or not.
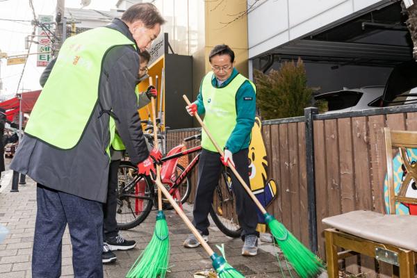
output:
[[[36,185],[26,177],[26,185],[19,185],[18,193],[10,193],[11,171],[3,172],[0,188],[0,224],[9,229],[9,234],[3,243],[0,243],[0,278],[28,278],[31,277],[31,254],[33,247],[33,231],[35,229],[36,215]],[[6,186],[4,183],[7,183]],[[192,206],[186,206],[185,211],[190,218]],[[125,238],[136,240],[133,250],[116,251],[117,261],[104,265],[104,277],[124,277],[131,265],[136,261],[140,252],[147,246],[154,232],[156,213],[151,215],[129,231],[122,231]],[[166,278],[193,278],[193,274],[201,270],[210,270],[211,259],[202,247],[186,249],[182,246],[183,240],[189,230],[174,211],[166,211],[167,222],[170,229],[171,257],[170,272]],[[245,275],[245,277],[283,277],[279,263],[273,255],[271,243],[260,243],[259,254],[254,257],[240,255],[243,242],[236,238],[228,238],[214,225],[211,225],[209,244],[218,252],[215,245],[224,243],[227,261]],[[268,251],[268,252],[265,252]],[[281,263],[284,260],[281,259]],[[70,234],[65,231],[63,236],[62,277],[74,277],[72,270],[72,246]],[[284,263],[285,265],[285,263]],[[285,271],[284,277],[290,277]],[[295,272],[293,272],[295,275]],[[295,277],[295,276],[294,276]]]

